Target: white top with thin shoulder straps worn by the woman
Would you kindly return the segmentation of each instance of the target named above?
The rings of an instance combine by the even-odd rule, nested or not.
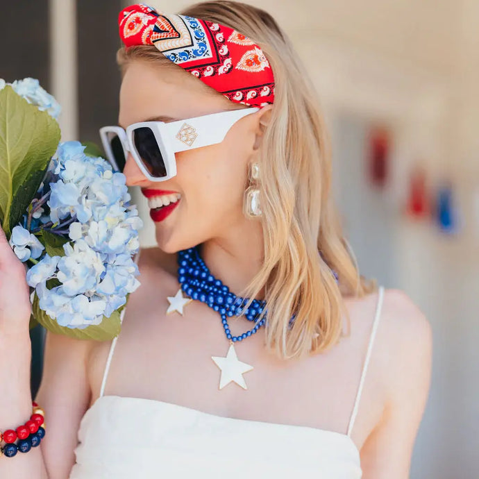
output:
[[[380,287],[346,434],[221,417],[153,399],[104,396],[115,337],[100,396],[81,420],[76,464],[69,478],[360,479],[360,452],[351,430],[382,303]]]

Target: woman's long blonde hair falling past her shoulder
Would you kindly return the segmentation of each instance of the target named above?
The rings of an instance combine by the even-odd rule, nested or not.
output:
[[[254,298],[264,288],[269,351],[285,359],[328,351],[343,335],[343,312],[350,327],[343,296],[362,297],[377,286],[360,276],[342,235],[330,194],[330,139],[314,87],[291,42],[264,10],[219,0],[180,14],[235,28],[258,43],[270,62],[274,108],[258,152],[264,264],[244,296]],[[153,46],[118,51],[122,72],[132,60],[180,69]]]

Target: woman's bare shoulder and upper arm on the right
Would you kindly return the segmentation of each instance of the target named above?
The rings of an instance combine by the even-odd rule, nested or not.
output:
[[[410,460],[428,400],[432,328],[400,289],[386,289],[375,343],[385,387],[380,421],[361,448],[364,477],[409,477]]]

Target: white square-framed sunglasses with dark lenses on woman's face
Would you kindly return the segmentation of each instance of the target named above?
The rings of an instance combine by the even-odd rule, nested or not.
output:
[[[171,121],[140,121],[126,127],[103,126],[100,137],[108,161],[123,171],[128,152],[151,181],[165,181],[176,175],[177,151],[221,143],[236,121],[260,108],[242,108],[201,117]]]

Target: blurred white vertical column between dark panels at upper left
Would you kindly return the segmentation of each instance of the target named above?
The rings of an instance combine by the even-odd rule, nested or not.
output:
[[[62,106],[62,141],[78,140],[76,0],[50,0],[51,94]]]

